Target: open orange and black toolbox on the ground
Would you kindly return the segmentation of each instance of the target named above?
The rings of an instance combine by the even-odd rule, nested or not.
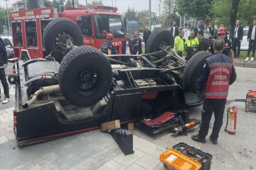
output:
[[[179,143],[160,155],[160,161],[166,169],[175,170],[209,170],[212,156],[201,150]]]

